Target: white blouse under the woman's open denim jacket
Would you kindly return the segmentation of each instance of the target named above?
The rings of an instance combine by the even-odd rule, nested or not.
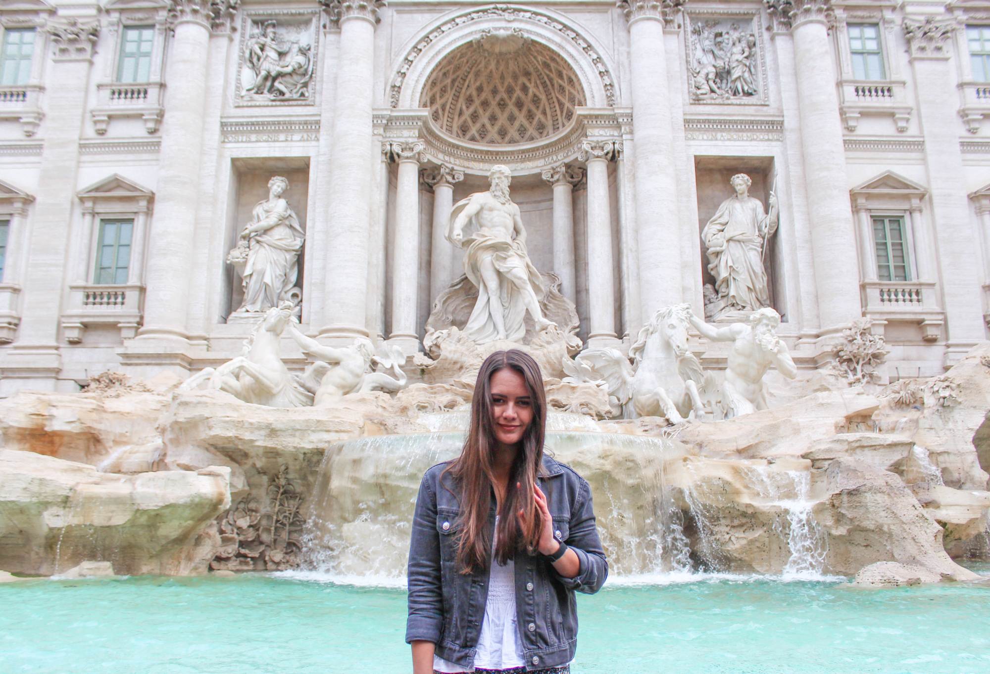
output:
[[[498,516],[495,517],[495,525],[497,531]],[[505,566],[500,566],[495,561],[495,542],[492,541],[492,559],[489,565],[491,574],[488,579],[488,599],[485,602],[485,616],[481,621],[474,666],[485,669],[522,667],[525,662],[516,620],[516,563],[510,559]],[[439,655],[434,655],[434,669],[438,672],[474,671],[474,667],[464,669]]]

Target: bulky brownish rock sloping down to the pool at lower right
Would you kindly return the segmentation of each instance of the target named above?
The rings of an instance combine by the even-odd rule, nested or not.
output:
[[[875,561],[898,561],[953,580],[977,577],[945,553],[941,527],[894,473],[840,458],[817,486],[826,495],[813,514],[828,536],[826,564],[834,573],[851,575]]]

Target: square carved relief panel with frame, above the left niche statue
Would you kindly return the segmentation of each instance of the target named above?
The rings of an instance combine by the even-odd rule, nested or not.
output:
[[[238,56],[237,106],[313,105],[319,13],[247,12]]]

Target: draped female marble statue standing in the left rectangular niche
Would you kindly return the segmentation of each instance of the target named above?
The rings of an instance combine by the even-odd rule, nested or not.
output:
[[[251,211],[253,220],[227,258],[235,267],[244,264],[245,297],[238,312],[263,312],[293,299],[289,295],[294,295],[290,291],[296,285],[305,234],[296,213],[282,199],[288,187],[289,181],[281,176],[268,181],[268,199]]]

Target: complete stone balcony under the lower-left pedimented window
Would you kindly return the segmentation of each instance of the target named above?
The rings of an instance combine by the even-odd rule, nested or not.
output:
[[[138,284],[69,286],[68,310],[61,319],[65,340],[81,342],[90,325],[116,325],[123,339],[134,337],[141,326],[144,300],[145,287]]]

